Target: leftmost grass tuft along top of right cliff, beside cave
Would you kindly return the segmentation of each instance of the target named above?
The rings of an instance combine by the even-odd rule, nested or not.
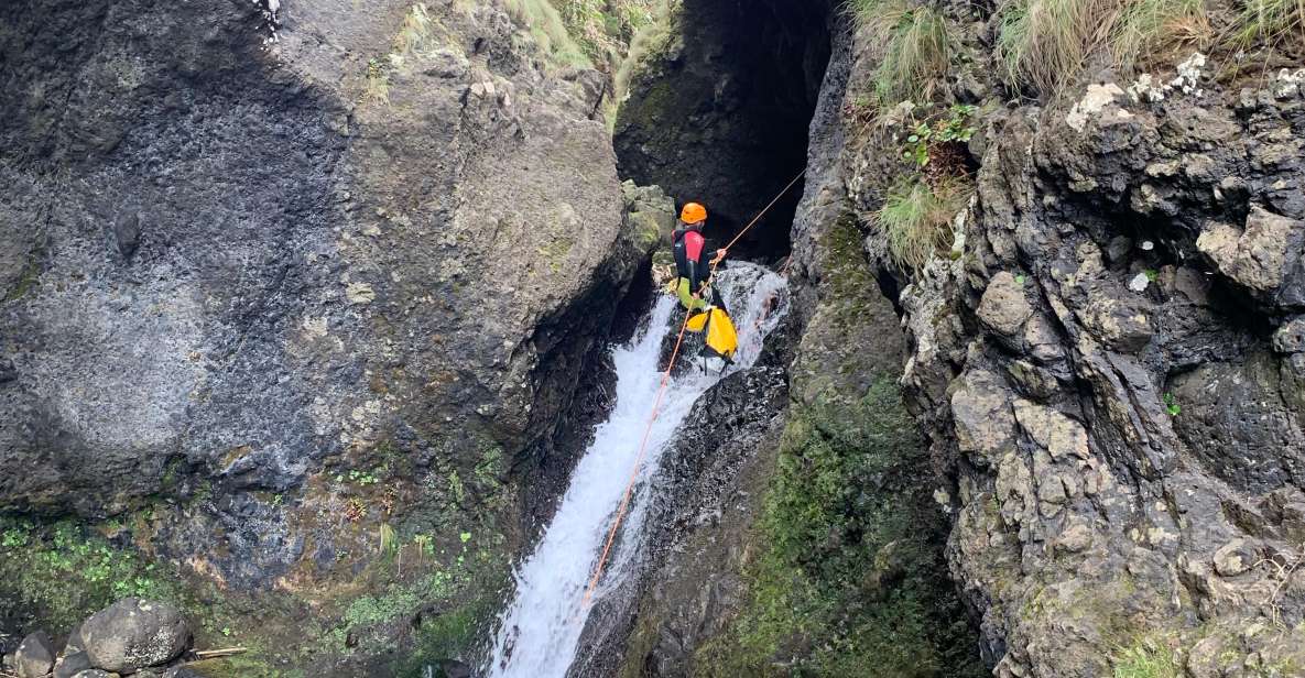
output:
[[[894,4],[878,8],[869,20],[887,40],[874,73],[874,94],[881,107],[927,100],[944,81],[951,63],[951,31],[937,9]]]

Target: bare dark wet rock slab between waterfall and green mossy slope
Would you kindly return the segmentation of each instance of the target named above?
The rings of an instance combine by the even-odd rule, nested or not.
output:
[[[731,374],[694,404],[643,519],[643,562],[590,617],[572,675],[688,675],[740,605],[741,555],[787,402],[784,370]]]

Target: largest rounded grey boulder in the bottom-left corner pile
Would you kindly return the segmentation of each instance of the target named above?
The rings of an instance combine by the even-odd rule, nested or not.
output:
[[[140,598],[123,598],[95,613],[81,635],[91,665],[119,673],[164,664],[191,643],[191,630],[176,608]]]

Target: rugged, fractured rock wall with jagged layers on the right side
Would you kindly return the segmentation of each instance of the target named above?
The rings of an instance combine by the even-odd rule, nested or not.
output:
[[[966,256],[902,293],[951,567],[997,675],[1298,665],[1305,102],[1125,87],[1007,116]]]

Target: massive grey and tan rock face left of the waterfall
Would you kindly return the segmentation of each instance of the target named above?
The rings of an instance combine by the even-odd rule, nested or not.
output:
[[[159,546],[262,585],[318,529],[271,494],[551,433],[642,256],[591,78],[416,10],[0,9],[0,506],[200,497]]]

